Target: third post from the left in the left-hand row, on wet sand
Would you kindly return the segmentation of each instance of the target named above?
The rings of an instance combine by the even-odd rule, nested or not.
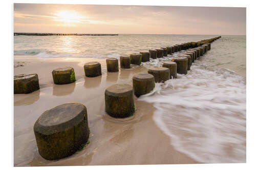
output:
[[[84,74],[87,77],[101,76],[101,65],[97,61],[92,61],[84,64],[83,69],[84,69]]]

